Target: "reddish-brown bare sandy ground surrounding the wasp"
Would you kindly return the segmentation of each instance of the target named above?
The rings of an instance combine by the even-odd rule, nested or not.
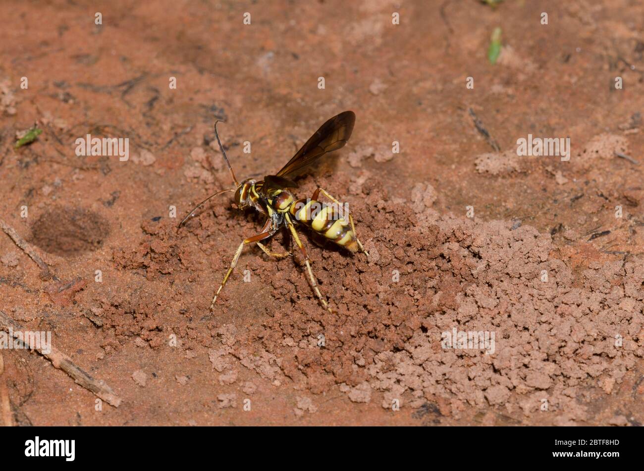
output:
[[[0,217],[53,272],[0,233],[0,310],[121,399],[2,350],[5,423],[644,421],[641,3],[4,1],[0,19]],[[214,120],[238,178],[261,178],[345,109],[350,142],[297,192],[348,202],[370,252],[303,236],[337,312],[299,257],[253,246],[211,313],[263,223],[225,194],[175,230],[231,185]],[[86,134],[129,159],[77,156]],[[570,160],[517,156],[528,134],[570,138]],[[445,348],[454,330],[493,348]]]

